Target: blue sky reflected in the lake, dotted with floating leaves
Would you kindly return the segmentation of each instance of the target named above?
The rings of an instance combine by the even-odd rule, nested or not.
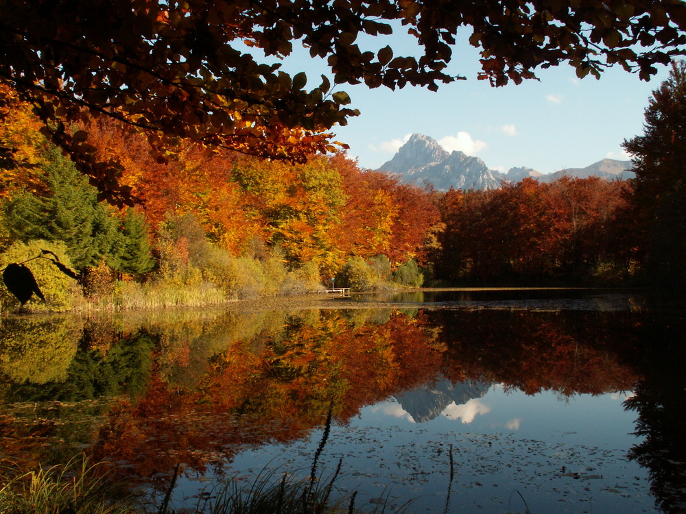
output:
[[[528,396],[493,386],[426,423],[388,400],[362,409],[348,426],[334,426],[318,469],[327,476],[342,458],[337,483],[359,491],[358,506],[390,494],[420,498],[410,512],[442,512],[452,445],[449,512],[525,512],[522,497],[534,513],[657,512],[647,473],[626,460],[637,439],[624,398]],[[307,476],[321,437],[317,430],[307,441],[242,452],[229,474],[257,474],[267,466]],[[191,482],[181,482],[189,495],[204,485]]]

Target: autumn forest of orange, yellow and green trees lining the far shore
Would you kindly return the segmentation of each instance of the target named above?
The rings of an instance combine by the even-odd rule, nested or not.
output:
[[[78,281],[45,260],[27,266],[57,310],[84,297],[112,308],[219,303],[316,291],[332,279],[363,290],[608,282],[630,278],[639,262],[627,182],[438,192],[342,153],[287,164],[188,146],[163,159],[127,127],[92,120],[89,142],[121,163],[120,181],[138,200],[115,208],[39,127],[29,106],[6,102],[0,267],[53,252]],[[2,295],[5,308],[16,305]]]

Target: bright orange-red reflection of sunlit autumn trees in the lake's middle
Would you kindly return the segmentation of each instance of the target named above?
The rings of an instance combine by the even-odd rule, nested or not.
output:
[[[193,387],[167,381],[176,374],[154,372],[140,401],[110,412],[96,457],[128,461],[139,476],[178,462],[201,472],[220,469],[242,445],[305,435],[324,422],[332,401],[345,421],[366,404],[430,380],[440,363],[433,332],[405,315],[361,324],[340,312],[309,311],[282,323],[276,332],[225,339],[204,372],[183,382]],[[167,359],[161,363],[169,369]]]

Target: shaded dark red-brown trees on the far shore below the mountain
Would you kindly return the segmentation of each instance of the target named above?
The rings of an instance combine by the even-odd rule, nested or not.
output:
[[[439,206],[439,276],[449,280],[592,278],[630,273],[626,182],[527,178],[494,191],[448,191]],[[595,274],[595,275],[594,275]]]

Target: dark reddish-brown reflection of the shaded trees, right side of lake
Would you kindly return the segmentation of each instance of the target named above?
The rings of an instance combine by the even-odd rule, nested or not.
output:
[[[502,382],[528,394],[628,391],[635,372],[617,358],[632,341],[622,315],[524,310],[438,311],[448,352],[445,374]]]

